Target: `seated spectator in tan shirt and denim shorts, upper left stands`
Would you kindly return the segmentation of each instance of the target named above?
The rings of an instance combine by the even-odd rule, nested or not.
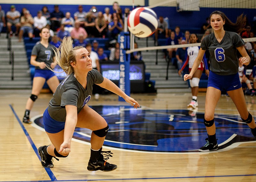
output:
[[[24,33],[28,34],[29,40],[31,41],[33,38],[34,20],[28,10],[24,12],[24,16],[20,17],[20,25],[19,42],[21,41]]]

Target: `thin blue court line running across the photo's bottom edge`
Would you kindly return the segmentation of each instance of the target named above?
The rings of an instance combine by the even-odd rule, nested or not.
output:
[[[218,175],[218,176],[187,176],[187,177],[162,177],[162,178],[114,178],[114,179],[75,179],[75,180],[57,180],[58,182],[68,181],[117,181],[117,180],[152,180],[152,179],[189,179],[189,178],[224,178],[224,177],[239,177],[239,176],[256,176],[256,174],[239,174],[239,175]],[[3,181],[4,182],[4,181]],[[16,182],[16,181],[5,181]],[[19,182],[38,182],[38,181],[19,181]],[[50,182],[49,180],[40,180],[40,182]]]

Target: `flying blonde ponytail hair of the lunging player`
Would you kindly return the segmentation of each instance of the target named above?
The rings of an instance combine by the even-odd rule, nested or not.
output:
[[[64,37],[60,47],[55,52],[55,60],[57,64],[63,69],[63,71],[70,75],[74,73],[74,68],[71,66],[71,62],[76,63],[76,50],[84,48],[77,46],[73,48],[73,40],[71,37]]]

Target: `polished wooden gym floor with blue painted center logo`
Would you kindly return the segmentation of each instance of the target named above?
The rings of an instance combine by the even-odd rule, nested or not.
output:
[[[103,108],[107,109],[107,112],[109,109],[111,110],[112,106],[126,106],[125,108],[129,112],[128,116],[125,117],[129,118],[130,113],[131,121],[140,122],[140,125],[138,125],[139,129],[137,128],[138,132],[135,132],[136,129],[133,130],[133,133],[131,133],[131,135],[129,134],[129,140],[124,137],[125,142],[107,141],[107,146],[103,146],[103,150],[111,150],[114,153],[113,157],[110,157],[108,162],[116,164],[118,168],[111,172],[87,171],[86,167],[90,157],[90,144],[89,142],[77,138],[72,141],[71,153],[67,158],[60,158],[60,161],[54,159],[54,168],[43,168],[40,164],[37,148],[42,145],[50,144],[50,141],[42,127],[35,123],[27,125],[21,122],[24,115],[25,104],[29,96],[30,92],[19,91],[12,93],[12,91],[0,91],[2,105],[0,112],[0,181],[256,181],[256,140],[250,134],[248,127],[239,123],[239,121],[238,124],[240,127],[231,126],[230,123],[227,123],[233,120],[230,119],[230,117],[239,118],[231,98],[227,96],[221,96],[216,108],[216,115],[222,119],[226,117],[227,120],[224,122],[221,121],[222,124],[219,122],[218,131],[220,132],[217,135],[220,141],[218,143],[222,143],[223,145],[221,145],[224,147],[220,150],[206,153],[199,153],[196,150],[188,151],[188,149],[191,148],[190,145],[196,145],[195,149],[197,149],[197,145],[203,146],[205,144],[204,141],[202,142],[202,140],[206,138],[205,128],[201,122],[204,112],[205,92],[199,93],[198,110],[192,113],[189,113],[187,110],[187,104],[191,99],[191,94],[189,93],[131,94],[141,106],[141,108],[137,110],[139,114],[136,113],[137,111],[133,111],[134,109],[130,108],[126,103],[119,102],[116,95],[100,95],[99,100],[95,100],[92,97],[88,103],[89,106],[95,106],[95,108],[106,106],[106,108]],[[42,116],[51,97],[51,93],[42,93],[39,95],[30,114],[32,119]],[[256,96],[245,97],[248,110],[255,117]],[[143,113],[142,111],[144,110],[147,110],[147,113]],[[99,112],[101,111],[99,110]],[[149,111],[152,112],[149,113]],[[172,115],[174,119],[169,117],[168,122],[175,121],[175,118],[188,122],[175,122],[170,124],[171,129],[164,129],[166,124],[162,124],[166,123],[166,121],[163,118],[158,118],[160,114],[158,114],[157,117],[154,115],[158,111],[160,114],[166,114],[168,112],[175,113]],[[122,114],[121,110],[118,112]],[[144,119],[140,121],[141,115],[143,114]],[[197,115],[197,118],[195,115]],[[155,117],[154,120],[152,120],[152,116]],[[106,114],[106,117],[108,118],[109,116]],[[181,118],[179,119],[179,117]],[[148,122],[150,120],[151,122]],[[188,124],[191,123],[190,121],[192,124],[198,124],[198,126],[200,124],[199,129],[195,130],[197,125],[189,125],[187,128]],[[130,121],[126,118],[123,123],[129,124],[129,122]],[[108,140],[113,139],[118,141],[120,139],[122,134],[121,130],[118,130],[119,132],[121,131],[118,135],[112,135],[113,133],[111,133],[111,126],[113,126],[112,130],[114,130],[114,126],[117,125],[120,127],[120,125],[122,125],[122,122],[120,122],[120,124],[117,123],[118,122],[110,125],[108,135],[113,136],[113,138],[110,137]],[[162,126],[163,128],[154,130],[153,132],[148,128],[145,130],[144,127],[152,126],[150,123],[156,124],[154,129],[156,129],[157,126]],[[133,129],[134,126],[135,125],[133,125]],[[132,129],[130,128],[129,130]],[[148,132],[142,132],[140,135],[139,133],[142,130],[143,132]],[[172,130],[174,132],[172,132]],[[183,132],[185,130],[188,132],[185,132],[184,135],[190,135],[189,137],[184,137],[183,134],[179,134],[179,137],[175,136],[175,132]],[[196,135],[192,135],[190,131],[196,132]],[[230,131],[234,132],[231,132],[229,136],[229,134],[225,133],[227,131],[229,133]],[[203,134],[200,134],[200,132],[203,132]],[[147,135],[147,137],[143,137],[143,135]],[[156,135],[160,136],[160,139],[154,140]],[[126,136],[126,134],[124,136]],[[236,138],[239,138],[239,140],[229,145],[230,141],[234,141]],[[161,143],[161,141],[164,142]],[[129,145],[129,142],[142,142],[142,144]],[[153,145],[147,145],[147,142],[153,142]],[[114,145],[111,147],[113,143],[119,144],[116,145],[117,147]],[[146,144],[143,145],[143,143]],[[160,151],[150,151],[152,146],[158,149],[160,143],[163,147],[159,148]],[[137,150],[137,146],[141,148]],[[193,147],[194,146],[192,146],[192,148]],[[165,151],[161,151],[161,149]]]

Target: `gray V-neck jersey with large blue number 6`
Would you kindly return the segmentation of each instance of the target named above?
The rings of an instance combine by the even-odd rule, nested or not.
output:
[[[214,33],[204,37],[201,43],[203,50],[210,52],[210,70],[217,75],[233,75],[238,72],[236,47],[243,46],[244,40],[235,32],[225,32],[221,42]]]

